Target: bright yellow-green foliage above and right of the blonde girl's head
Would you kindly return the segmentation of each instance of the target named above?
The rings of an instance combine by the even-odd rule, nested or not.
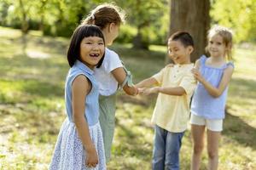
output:
[[[212,24],[228,26],[236,42],[256,42],[255,0],[218,0],[212,3]]]

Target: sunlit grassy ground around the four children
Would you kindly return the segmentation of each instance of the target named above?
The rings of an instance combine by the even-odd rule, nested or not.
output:
[[[0,27],[0,169],[47,169],[64,111],[67,39]],[[113,47],[134,73],[135,82],[164,65],[165,47],[151,51]],[[256,169],[256,52],[236,48],[219,169]],[[154,131],[150,117],[156,96],[119,93],[113,159],[109,170],[150,169]],[[181,169],[189,169],[190,131],[185,133]],[[204,152],[202,167],[207,167]]]

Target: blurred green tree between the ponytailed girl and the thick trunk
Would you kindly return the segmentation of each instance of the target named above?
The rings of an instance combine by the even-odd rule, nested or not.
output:
[[[129,24],[137,28],[137,35],[132,41],[133,48],[148,49],[150,41],[159,38],[165,31],[162,27],[165,25],[161,22],[167,11],[167,0],[127,0],[116,3],[127,12]]]

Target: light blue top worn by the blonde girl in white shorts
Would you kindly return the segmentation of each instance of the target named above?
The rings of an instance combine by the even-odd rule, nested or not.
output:
[[[218,85],[223,77],[224,70],[228,65],[233,65],[233,63],[229,62],[223,65],[220,68],[214,68],[206,65],[207,57],[202,55],[200,58],[200,72],[202,77],[204,77],[207,82],[210,82],[212,86],[218,88]],[[196,116],[203,116],[206,119],[224,119],[224,110],[225,104],[228,94],[228,88],[224,89],[223,94],[221,94],[218,98],[213,98],[207,92],[207,89],[201,84],[201,82],[197,83],[197,87],[195,88],[195,94],[191,103],[191,113]]]

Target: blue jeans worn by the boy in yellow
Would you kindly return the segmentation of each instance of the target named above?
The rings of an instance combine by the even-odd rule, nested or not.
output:
[[[171,133],[157,125],[154,127],[153,170],[179,169],[179,150],[182,133]]]

